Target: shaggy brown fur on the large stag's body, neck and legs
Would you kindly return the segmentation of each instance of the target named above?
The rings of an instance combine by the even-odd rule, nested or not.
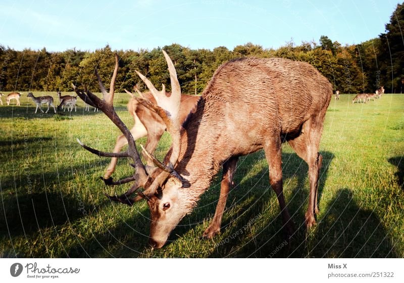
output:
[[[322,156],[320,137],[332,86],[313,66],[287,59],[232,60],[215,72],[202,99],[189,114],[181,133],[181,152],[175,171],[186,178],[190,187],[179,187],[176,215],[181,218],[195,207],[223,165],[220,201],[214,220],[204,236],[211,238],[220,230],[237,159],[264,149],[269,164],[270,183],[281,208],[286,231],[293,225],[282,192],[281,143],[288,141],[297,155],[309,165],[310,195],[306,223],[315,223],[318,176]],[[169,154],[166,156],[166,161]],[[168,186],[163,188],[163,199]],[[171,194],[169,187],[168,194]],[[159,228],[159,197],[151,199],[150,243],[165,239]],[[179,220],[178,220],[179,221]],[[178,222],[177,222],[178,223]],[[166,229],[165,229],[166,230]],[[170,232],[170,231],[169,231]],[[156,236],[154,238],[154,236]]]

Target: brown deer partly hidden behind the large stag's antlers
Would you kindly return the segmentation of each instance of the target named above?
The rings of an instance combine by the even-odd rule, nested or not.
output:
[[[149,100],[153,104],[157,104],[151,92],[142,93],[137,87],[134,87],[142,98]],[[146,141],[146,151],[153,154],[157,148],[160,138],[162,137],[164,131],[167,130],[167,126],[163,119],[154,111],[148,110],[148,108],[141,105],[136,97],[128,90],[125,91],[132,97],[128,103],[128,110],[130,115],[132,115],[135,125],[130,130],[133,139],[137,140],[143,136],[147,135]],[[171,95],[171,92],[166,93],[167,96]],[[188,116],[192,108],[195,107],[196,103],[200,99],[200,96],[189,96],[181,95],[181,107],[180,107],[180,123],[182,124],[185,118]],[[97,109],[98,110],[98,109]],[[121,149],[128,144],[128,140],[125,135],[120,135],[117,138],[114,147],[114,153],[118,153]],[[147,165],[153,166],[153,160],[149,159],[145,154],[143,154],[144,159],[147,161]],[[118,159],[112,158],[108,169],[104,174],[104,179],[111,177],[111,174],[115,171]]]

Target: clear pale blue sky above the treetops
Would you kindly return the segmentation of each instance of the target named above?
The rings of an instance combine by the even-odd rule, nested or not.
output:
[[[252,42],[345,44],[384,32],[398,1],[15,1],[1,0],[0,44],[63,51],[153,49],[173,42],[192,49]]]

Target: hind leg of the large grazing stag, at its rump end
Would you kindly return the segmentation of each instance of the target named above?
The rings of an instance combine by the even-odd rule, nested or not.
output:
[[[316,117],[319,119],[319,117]],[[324,120],[324,116],[322,118]],[[320,146],[320,137],[323,131],[323,121],[312,118],[305,122],[301,134],[291,140],[289,145],[296,154],[309,165],[309,205],[305,215],[307,227],[316,224],[315,214],[318,209],[318,182],[323,156],[318,152]]]

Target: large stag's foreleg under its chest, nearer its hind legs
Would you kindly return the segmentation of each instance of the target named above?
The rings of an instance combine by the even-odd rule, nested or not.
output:
[[[285,197],[283,196],[282,148],[280,135],[271,137],[271,139],[267,141],[264,151],[265,157],[268,161],[270,184],[278,199],[284,231],[289,238],[294,234],[295,229],[286,207]]]

